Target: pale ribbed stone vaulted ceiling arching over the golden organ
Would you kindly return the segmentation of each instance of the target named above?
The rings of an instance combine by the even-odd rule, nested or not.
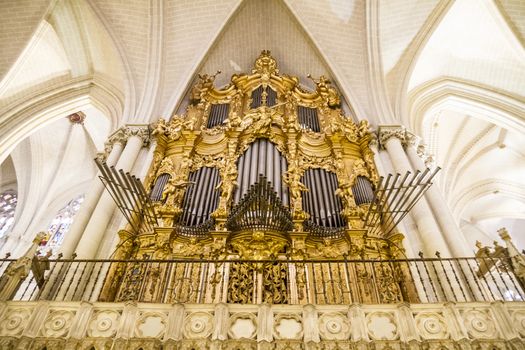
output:
[[[225,83],[270,49],[305,84],[329,76],[355,118],[422,136],[458,222],[525,215],[523,1],[18,0],[0,14],[0,161],[78,110],[110,130],[169,117],[198,73]]]

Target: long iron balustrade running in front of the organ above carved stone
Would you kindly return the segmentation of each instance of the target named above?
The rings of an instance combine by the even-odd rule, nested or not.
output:
[[[49,260],[13,300],[349,304],[523,301],[507,258]],[[4,274],[16,259],[1,259]],[[478,274],[480,266],[489,267]],[[2,276],[4,280],[6,276]],[[40,285],[40,287],[39,287]],[[111,291],[113,288],[113,294]]]

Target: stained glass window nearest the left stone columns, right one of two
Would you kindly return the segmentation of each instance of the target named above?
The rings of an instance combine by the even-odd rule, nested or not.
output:
[[[57,215],[47,228],[49,237],[46,244],[40,249],[40,255],[46,255],[49,251],[51,251],[51,257],[56,258],[58,248],[64,241],[64,236],[66,235],[67,231],[69,231],[69,227],[73,223],[75,215],[80,209],[80,205],[83,201],[84,195],[82,194],[71,200],[64,208],[58,211]]]

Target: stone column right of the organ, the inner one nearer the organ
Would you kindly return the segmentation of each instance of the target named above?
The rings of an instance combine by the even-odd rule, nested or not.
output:
[[[405,174],[407,171],[413,173],[412,166],[403,149],[403,143],[406,141],[406,131],[400,126],[380,126],[379,142],[384,147],[392,160],[394,169]],[[412,208],[411,213],[416,222],[419,237],[423,245],[423,253],[426,257],[435,257],[436,251],[442,256],[449,257],[450,251],[439,230],[439,226],[434,220],[432,210],[424,198]]]

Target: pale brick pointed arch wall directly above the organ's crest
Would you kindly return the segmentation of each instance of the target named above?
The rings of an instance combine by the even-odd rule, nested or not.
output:
[[[242,49],[239,45],[242,45]],[[215,84],[222,86],[229,82],[231,75],[249,72],[253,61],[263,49],[272,52],[280,72],[284,74],[298,77],[305,77],[307,73],[331,76],[343,89],[341,92],[351,108],[356,108],[357,101],[338,81],[333,66],[328,63],[327,57],[319,50],[314,38],[296,14],[286,3],[271,0],[245,1],[236,5],[219,34],[199,56],[199,61],[186,75],[183,83],[175,90],[164,91],[162,114],[172,115],[180,111],[179,106],[198,72],[215,72],[220,69],[222,74],[216,78]],[[309,84],[307,81],[303,83]]]

